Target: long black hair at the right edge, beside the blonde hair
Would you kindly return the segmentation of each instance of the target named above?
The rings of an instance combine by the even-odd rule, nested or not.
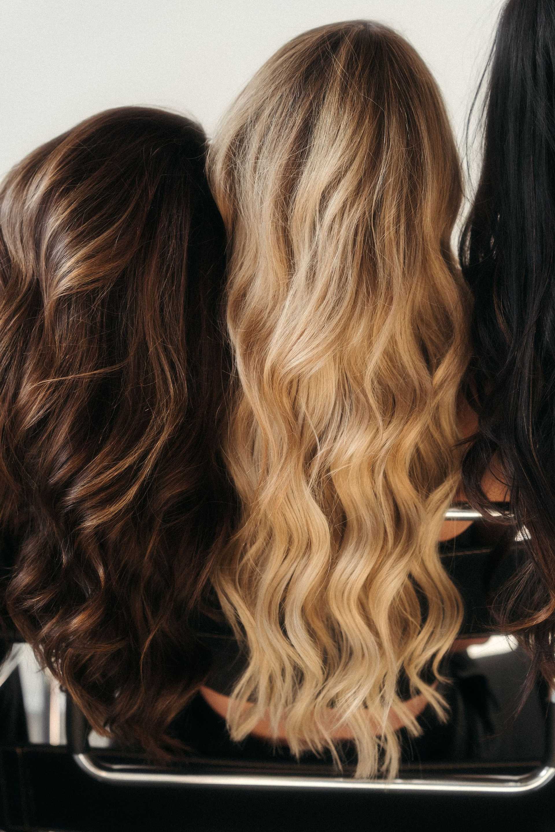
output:
[[[483,166],[460,244],[473,291],[469,364],[478,435],[463,459],[488,511],[494,459],[528,557],[506,587],[503,623],[555,680],[555,5],[511,0],[490,55]],[[482,86],[482,85],[481,85]],[[478,94],[477,94],[478,95]],[[477,99],[475,99],[476,102]],[[533,679],[533,672],[530,678]]]

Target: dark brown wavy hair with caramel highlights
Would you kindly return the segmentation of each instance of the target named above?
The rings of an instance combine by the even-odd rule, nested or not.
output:
[[[7,609],[92,726],[161,755],[206,671],[191,614],[233,513],[205,156],[193,122],[116,109],[0,191]]]

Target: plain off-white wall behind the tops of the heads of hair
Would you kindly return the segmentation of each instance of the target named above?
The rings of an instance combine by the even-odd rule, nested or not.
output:
[[[389,23],[439,81],[459,141],[503,0],[0,0],[0,176],[92,113],[166,106],[208,131],[286,40]]]

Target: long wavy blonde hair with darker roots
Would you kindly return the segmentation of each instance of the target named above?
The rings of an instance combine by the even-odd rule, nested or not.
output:
[[[390,29],[317,28],[245,87],[209,171],[230,238],[225,453],[242,504],[214,583],[250,656],[231,735],[269,716],[296,755],[340,765],[346,726],[357,776],[394,774],[390,709],[419,731],[399,674],[441,713],[422,671],[439,674],[460,620],[436,544],[468,360],[444,105]]]

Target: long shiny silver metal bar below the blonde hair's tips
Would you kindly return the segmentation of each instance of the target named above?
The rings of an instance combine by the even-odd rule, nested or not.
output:
[[[541,789],[555,775],[553,765],[519,777],[482,775],[480,777],[444,778],[443,780],[350,780],[344,777],[306,777],[280,775],[193,775],[172,772],[111,770],[98,765],[88,754],[75,754],[73,759],[87,775],[104,783],[119,785],[206,785],[234,788],[265,789],[356,789],[404,792],[466,792],[467,794],[521,794]]]

